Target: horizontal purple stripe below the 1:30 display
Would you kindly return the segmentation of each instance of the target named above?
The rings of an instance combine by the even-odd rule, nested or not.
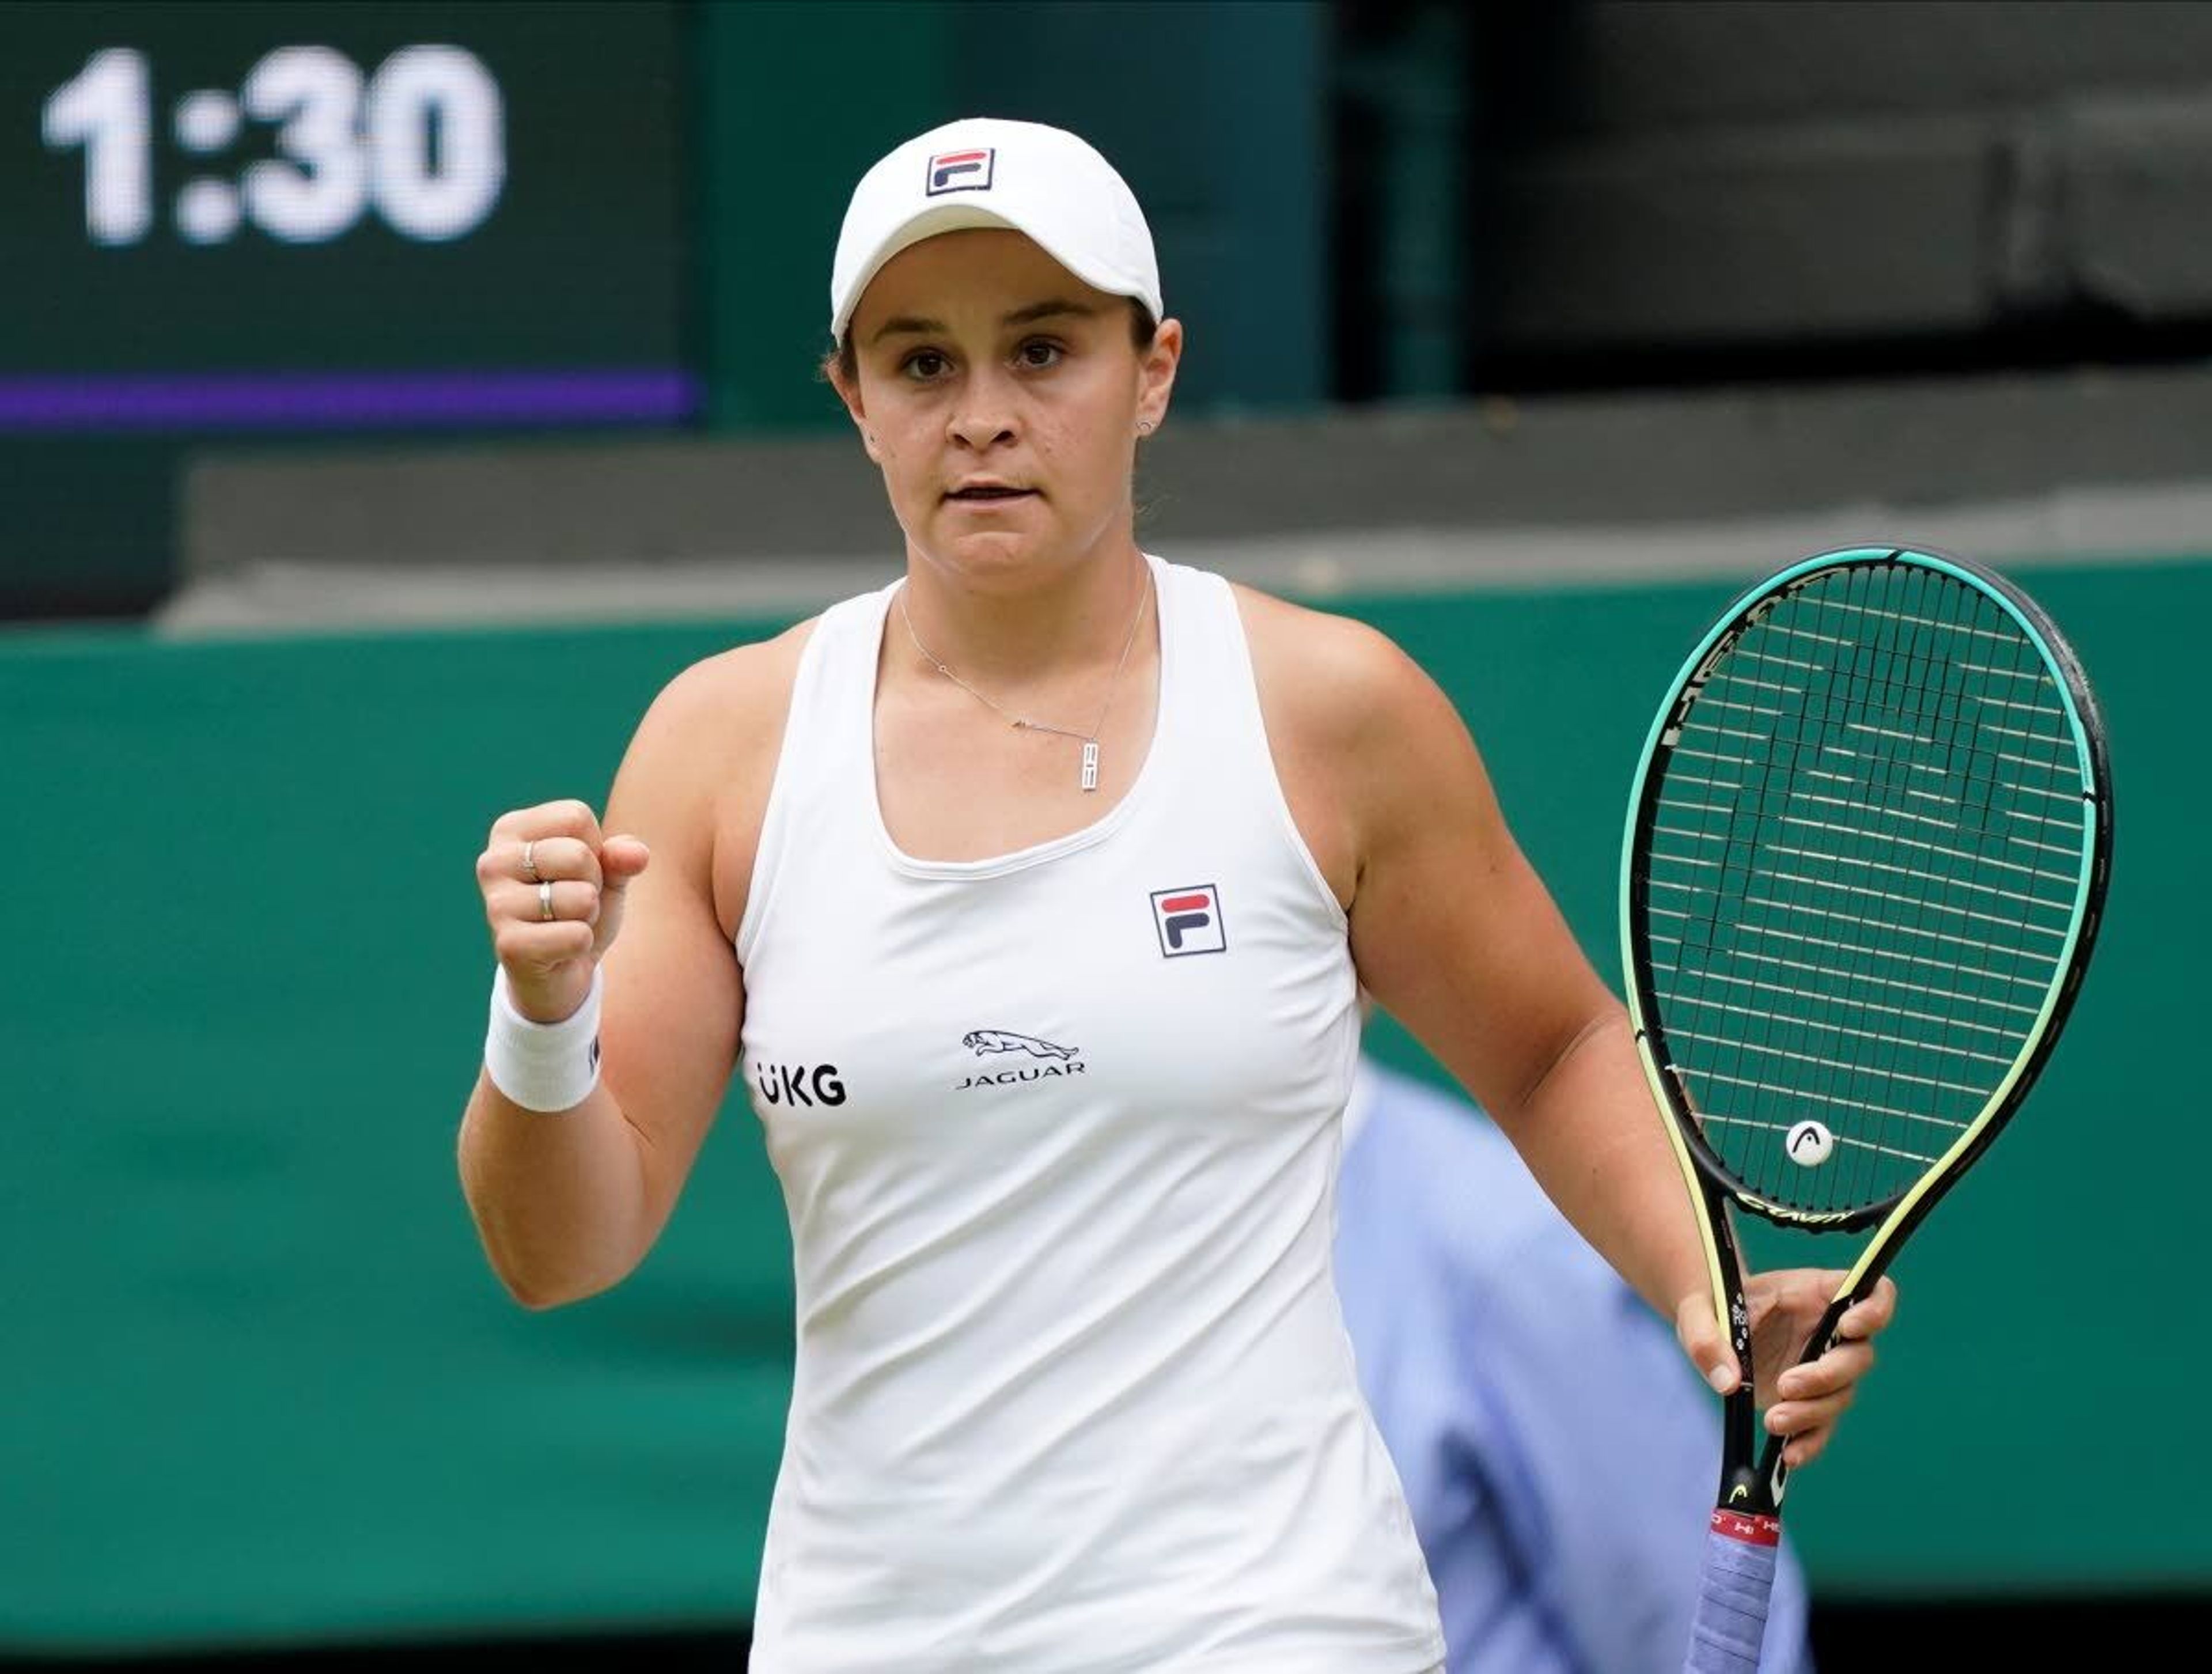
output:
[[[699,380],[606,372],[0,378],[0,431],[644,425],[699,411]]]

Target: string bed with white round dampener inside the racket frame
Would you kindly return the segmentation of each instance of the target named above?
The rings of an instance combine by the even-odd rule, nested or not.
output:
[[[1747,1188],[1863,1207],[1966,1132],[2057,977],[2081,825],[2057,681],[1978,588],[1860,564],[1741,635],[1679,719],[1644,880],[1677,1073]],[[1829,1161],[1792,1161],[1803,1121]]]

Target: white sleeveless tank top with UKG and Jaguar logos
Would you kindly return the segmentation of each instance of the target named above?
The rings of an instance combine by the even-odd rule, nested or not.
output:
[[[1345,916],[1228,582],[1148,562],[1135,785],[993,860],[883,825],[896,584],[801,655],[737,933],[799,1302],[759,1674],[1442,1661],[1332,1278]]]

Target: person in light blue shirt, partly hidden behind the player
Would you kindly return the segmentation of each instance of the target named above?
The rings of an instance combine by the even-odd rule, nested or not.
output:
[[[1336,1285],[1449,1674],[1679,1674],[1721,1413],[1467,1099],[1360,1059]],[[1783,1541],[1763,1674],[1812,1674]]]

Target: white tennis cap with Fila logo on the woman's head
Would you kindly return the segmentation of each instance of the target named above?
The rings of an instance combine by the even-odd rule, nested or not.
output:
[[[1135,296],[1161,318],[1152,230],[1113,164],[1062,128],[964,117],[916,135],[860,177],[830,270],[830,336],[845,336],[883,263],[964,228],[1024,232],[1086,285]]]

